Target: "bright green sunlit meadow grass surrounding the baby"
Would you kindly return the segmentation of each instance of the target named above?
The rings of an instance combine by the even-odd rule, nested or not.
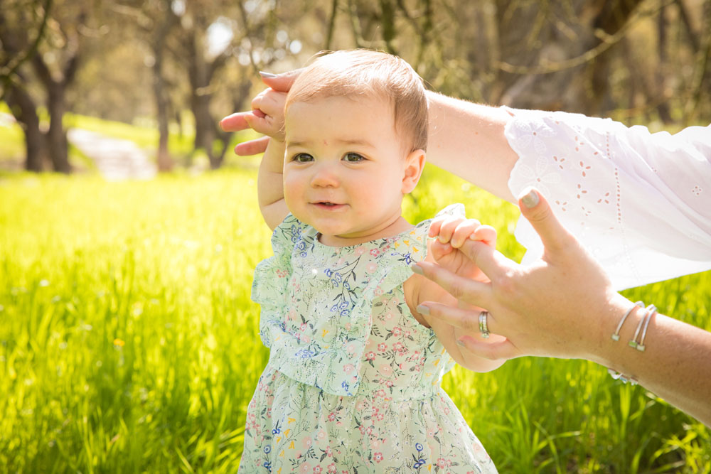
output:
[[[436,168],[411,222],[451,202],[518,211]],[[271,253],[254,171],[150,182],[0,179],[0,465],[8,472],[234,472],[267,362],[255,264]],[[629,291],[710,327],[711,273]],[[652,297],[653,296],[653,297]],[[704,473],[711,432],[604,367],[526,358],[444,387],[502,473]]]

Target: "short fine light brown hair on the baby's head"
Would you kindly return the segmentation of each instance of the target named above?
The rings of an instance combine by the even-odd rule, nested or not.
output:
[[[321,51],[289,90],[294,102],[324,97],[385,99],[394,109],[395,130],[409,151],[427,149],[427,97],[422,78],[395,55],[373,50]]]

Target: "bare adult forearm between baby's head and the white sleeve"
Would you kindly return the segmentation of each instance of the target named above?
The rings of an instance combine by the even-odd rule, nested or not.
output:
[[[428,92],[427,159],[440,168],[513,202],[508,177],[518,155],[503,131],[505,109]]]

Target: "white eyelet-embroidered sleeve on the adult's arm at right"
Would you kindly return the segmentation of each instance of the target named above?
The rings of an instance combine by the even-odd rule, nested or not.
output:
[[[519,156],[511,193],[538,188],[616,289],[711,269],[711,126],[651,134],[580,114],[508,112]],[[523,263],[540,258],[523,217],[515,235]]]

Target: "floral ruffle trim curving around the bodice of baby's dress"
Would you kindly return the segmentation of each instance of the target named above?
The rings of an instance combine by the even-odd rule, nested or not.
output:
[[[464,216],[464,205],[449,205],[437,213]],[[289,311],[289,281],[292,276],[292,258],[306,254],[312,247],[321,245],[316,230],[289,214],[272,235],[274,257],[265,259],[255,269],[252,284],[252,301],[262,307],[260,335],[262,343],[270,348],[269,365],[287,377],[309,384],[324,392],[353,396],[360,387],[361,365],[365,344],[372,326],[373,304],[377,299],[402,285],[412,276],[410,264],[427,257],[427,232],[432,220],[419,222],[410,231],[363,244],[371,249],[383,249],[374,262],[378,265],[351,309],[348,326],[339,328],[336,340],[303,340],[287,331],[284,314]],[[274,295],[282,295],[274,298]],[[342,374],[342,377],[328,375]]]

